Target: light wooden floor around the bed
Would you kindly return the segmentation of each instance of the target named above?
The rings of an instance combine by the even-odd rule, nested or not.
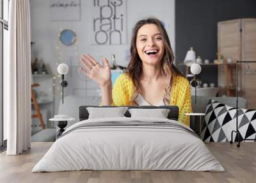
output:
[[[0,182],[256,182],[256,143],[206,143],[225,172],[195,171],[65,171],[31,173],[52,143],[32,143],[22,155],[0,154]]]

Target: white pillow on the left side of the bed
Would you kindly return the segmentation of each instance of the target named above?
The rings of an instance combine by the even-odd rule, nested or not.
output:
[[[86,107],[89,117],[88,119],[95,118],[118,118],[125,117],[124,113],[128,107]]]

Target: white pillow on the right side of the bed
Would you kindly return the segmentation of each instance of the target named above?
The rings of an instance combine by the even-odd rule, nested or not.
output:
[[[134,117],[151,117],[151,118],[167,118],[170,109],[128,109],[131,118]]]

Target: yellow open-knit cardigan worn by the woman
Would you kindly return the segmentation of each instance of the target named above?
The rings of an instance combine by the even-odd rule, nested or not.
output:
[[[189,81],[182,76],[173,74],[173,84],[170,93],[170,105],[179,107],[179,122],[189,126],[191,113],[191,91]],[[127,74],[121,74],[115,81],[112,90],[112,106],[132,106],[130,101],[133,93],[132,79]]]

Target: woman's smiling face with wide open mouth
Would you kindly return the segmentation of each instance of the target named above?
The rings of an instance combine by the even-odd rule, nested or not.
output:
[[[145,24],[138,30],[136,49],[143,64],[160,63],[164,54],[163,36],[155,24]]]

